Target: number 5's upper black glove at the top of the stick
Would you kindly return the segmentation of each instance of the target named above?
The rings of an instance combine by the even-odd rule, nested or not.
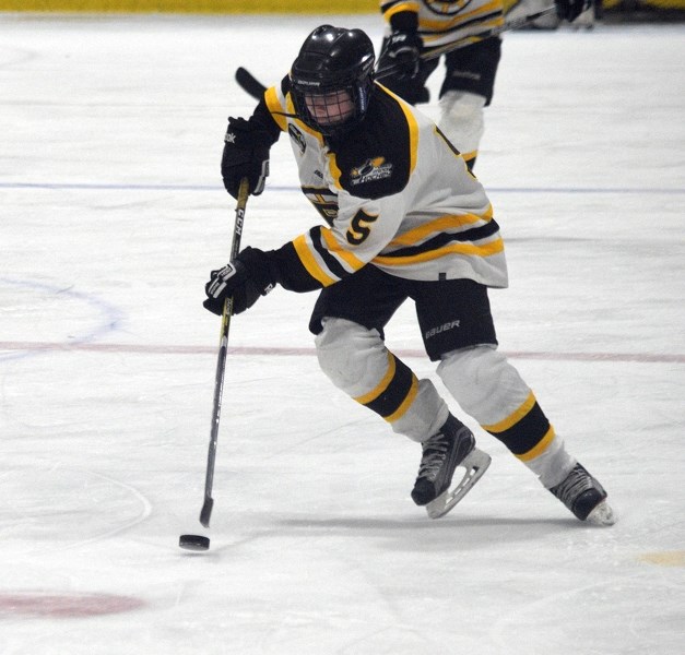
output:
[[[224,138],[221,176],[226,191],[238,198],[240,180],[246,177],[250,193],[259,195],[269,176],[269,148],[273,139],[269,132],[244,118],[229,118]]]

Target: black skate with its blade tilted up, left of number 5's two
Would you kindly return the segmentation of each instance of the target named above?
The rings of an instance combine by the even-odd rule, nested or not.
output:
[[[417,505],[426,507],[430,519],[439,519],[471,490],[489,466],[491,456],[475,448],[471,430],[451,414],[440,431],[421,445],[423,456],[412,499]],[[450,489],[457,466],[463,466],[466,472]]]

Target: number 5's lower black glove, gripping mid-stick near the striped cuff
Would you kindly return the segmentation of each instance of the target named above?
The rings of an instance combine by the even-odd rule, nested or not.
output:
[[[206,300],[202,305],[221,315],[224,301],[233,296],[233,313],[240,313],[252,307],[260,296],[265,296],[274,285],[269,255],[248,246],[221,271],[210,273],[210,281],[204,285]]]

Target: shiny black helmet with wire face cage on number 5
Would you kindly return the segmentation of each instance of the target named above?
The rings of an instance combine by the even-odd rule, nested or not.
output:
[[[329,136],[353,128],[368,109],[375,61],[374,44],[362,29],[317,27],[291,70],[297,117]]]

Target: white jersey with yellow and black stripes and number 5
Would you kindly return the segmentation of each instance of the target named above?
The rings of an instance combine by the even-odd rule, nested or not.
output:
[[[264,100],[290,135],[303,192],[328,224],[292,241],[317,286],[368,263],[409,279],[507,286],[489,200],[429,118],[376,83],[364,120],[324,140],[295,116],[287,79]]]

